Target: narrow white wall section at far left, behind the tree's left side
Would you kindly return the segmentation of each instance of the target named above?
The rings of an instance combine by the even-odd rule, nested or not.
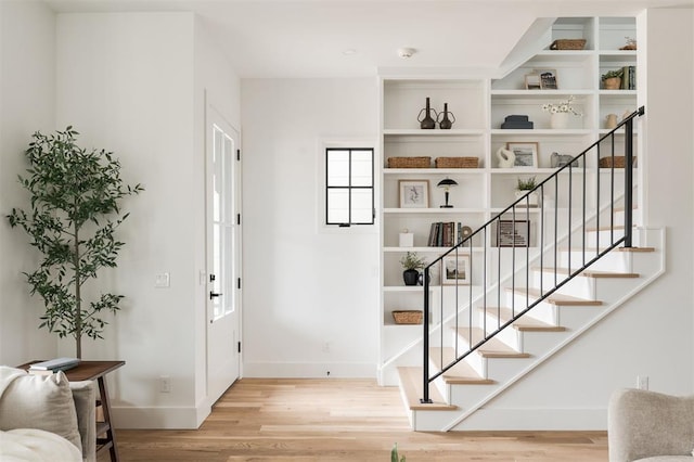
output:
[[[36,269],[38,255],[5,219],[12,207],[28,206],[17,174],[28,167],[31,134],[54,128],[54,24],[42,2],[0,2],[0,363],[10,365],[55,351],[56,337],[38,329],[43,303],[29,296],[22,274]]]

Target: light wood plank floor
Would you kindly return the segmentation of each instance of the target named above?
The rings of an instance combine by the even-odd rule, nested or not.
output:
[[[398,389],[367,380],[243,378],[197,431],[116,437],[124,462],[388,462],[396,441],[408,462],[607,461],[605,432],[412,432]]]

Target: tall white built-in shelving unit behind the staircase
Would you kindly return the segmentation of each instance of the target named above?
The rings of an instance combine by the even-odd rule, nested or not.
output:
[[[582,50],[550,50],[557,39],[586,40]],[[479,78],[412,78],[383,77],[381,79],[381,268],[382,268],[382,357],[381,363],[390,363],[404,347],[421,336],[421,326],[396,325],[391,311],[421,309],[423,287],[406,286],[399,259],[407,252],[416,252],[427,261],[446,252],[446,247],[427,246],[433,222],[455,222],[477,229],[502,211],[515,200],[518,178],[536,177],[542,180],[555,171],[552,153],[576,155],[608,131],[607,115],[616,114],[620,120],[625,113],[637,108],[637,90],[606,90],[601,76],[607,70],[637,65],[635,50],[620,50],[628,38],[635,38],[635,18],[631,17],[573,17],[558,18],[547,31],[536,51],[525,63],[499,79]],[[531,46],[531,44],[528,44]],[[526,76],[550,70],[556,78],[556,89],[528,89]],[[566,128],[551,128],[550,114],[542,104],[558,103],[574,98],[574,107],[581,117],[570,117]],[[417,115],[429,98],[430,106],[440,112],[444,104],[453,113],[452,129],[423,130]],[[509,115],[527,115],[532,129],[502,129]],[[638,133],[634,133],[634,138]],[[506,143],[537,143],[535,167],[504,168],[496,153]],[[617,138],[624,145],[624,136]],[[634,143],[634,146],[637,143]],[[617,146],[621,149],[622,146]],[[429,168],[387,168],[389,157],[429,156]],[[434,168],[436,157],[478,157],[477,168]],[[586,181],[595,181],[596,159],[586,168],[575,168],[574,174],[584,175]],[[612,171],[612,170],[608,170]],[[458,187],[450,189],[452,208],[441,208],[444,190],[437,183],[453,179]],[[429,203],[426,208],[400,208],[399,182],[426,180]],[[541,198],[542,200],[542,198]],[[552,192],[543,197],[552,203]],[[562,207],[562,204],[557,204]],[[557,208],[558,209],[558,208]],[[516,219],[537,221],[548,214],[540,204],[528,208]],[[412,247],[399,246],[399,233],[414,234]],[[530,231],[530,247],[534,242]],[[494,245],[493,243],[491,245]],[[464,252],[483,253],[483,243],[473,242]],[[517,252],[525,252],[517,249]],[[494,247],[488,248],[487,258],[497,258]],[[479,266],[478,266],[479,267]],[[472,285],[464,291],[478,291],[483,269],[472,274]],[[433,274],[434,304],[453,290],[441,286],[440,274]],[[463,290],[462,287],[459,291]],[[433,313],[436,318],[436,315]],[[416,329],[415,329],[416,328]]]

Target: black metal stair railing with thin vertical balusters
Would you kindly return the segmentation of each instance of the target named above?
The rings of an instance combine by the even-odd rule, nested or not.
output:
[[[450,370],[452,367],[458,364],[468,355],[480,348],[491,338],[493,338],[497,334],[502,332],[505,328],[510,326],[512,323],[517,321],[523,315],[531,310],[547,297],[555,293],[560,287],[568,283],[571,279],[579,275],[586,268],[590,265],[602,258],[604,255],[609,253],[613,248],[617,247],[619,244],[624,243],[625,247],[632,246],[632,236],[631,231],[633,227],[632,219],[632,210],[633,210],[633,119],[635,117],[642,116],[645,113],[644,107],[640,107],[638,111],[633,112],[629,116],[625,117],[621,123],[619,123],[614,129],[609,132],[605,133],[593,144],[588,146],[580,154],[576,155],[568,162],[566,165],[557,168],[552,175],[545,178],[543,181],[539,182],[535,189],[528,191],[525,195],[517,198],[510,206],[504,208],[497,216],[491,218],[485,224],[479,227],[468,236],[462,239],[455,246],[451,247],[449,251],[440,255],[437,259],[432,261],[426,268],[424,268],[424,337],[423,337],[423,369],[424,369],[424,393],[421,401],[423,403],[432,402],[429,398],[429,384],[436,380],[438,376],[442,375],[446,371]],[[624,180],[624,194],[615,195],[615,164],[618,157],[615,156],[615,134],[624,128],[624,144],[625,144],[625,156],[624,156],[624,171],[625,171],[625,180]],[[608,155],[602,156],[603,149],[607,146]],[[593,159],[594,157],[595,165],[597,167],[595,175],[595,189],[589,190],[587,185],[587,177],[588,177],[588,161]],[[608,185],[608,197],[602,200],[601,194],[604,193],[604,190],[601,190],[601,171],[600,167],[602,158],[609,158],[609,178],[607,180]],[[580,163],[582,161],[582,167],[580,167]],[[581,170],[582,180],[576,184],[574,181],[575,170]],[[567,195],[561,195],[560,192],[564,192],[560,190],[560,183],[562,179],[563,185],[567,190]],[[580,195],[581,201],[581,209],[579,217],[573,217],[573,209],[575,205],[575,193],[574,190],[578,189],[578,193]],[[530,252],[530,241],[532,240],[531,235],[531,220],[530,220],[530,196],[535,194],[536,196],[539,194],[541,198],[545,196],[545,192],[553,193],[554,195],[554,210],[553,210],[553,222],[550,222],[549,226],[553,227],[553,235],[545,235],[545,228],[548,228],[548,223],[545,222],[544,214],[548,211],[550,207],[549,204],[542,204],[542,208],[540,209],[540,222],[537,226],[537,230],[535,232],[535,241],[538,243],[537,251],[531,255]],[[594,197],[589,197],[589,193],[594,193]],[[594,208],[589,208],[588,201],[594,200]],[[625,210],[625,220],[624,220],[624,235],[620,238],[616,238],[616,231],[619,230],[619,226],[615,223],[614,215],[616,211],[616,204],[619,201],[624,201],[624,210]],[[560,222],[560,209],[558,204],[560,201],[566,203],[566,221]],[[522,209],[520,211],[518,209]],[[601,231],[601,214],[608,214],[609,223],[606,227],[606,230],[609,232],[608,242],[601,242],[600,231]],[[516,218],[520,216],[520,218],[525,218],[524,220],[516,220]],[[504,219],[504,217],[506,217]],[[509,220],[510,218],[510,220]],[[510,227],[506,231],[511,234],[502,235],[502,222],[506,228]],[[509,222],[511,223],[509,226]],[[516,224],[525,223],[524,230],[518,230]],[[587,233],[589,230],[588,226],[594,223],[597,232],[596,232],[596,241],[595,241],[595,249],[594,252],[590,249],[587,253]],[[560,234],[560,226],[566,226],[566,229],[562,231]],[[493,232],[492,230],[497,230],[496,234],[496,243],[492,240]],[[522,232],[519,232],[522,231]],[[581,239],[581,258],[580,262],[574,262],[577,266],[576,269],[573,269],[571,265],[571,252],[573,248],[573,236],[574,234],[579,234]],[[503,238],[503,242],[502,242]],[[510,243],[505,240],[510,240]],[[476,258],[474,258],[475,247],[474,243],[477,243],[479,247],[481,247],[483,257],[481,257],[481,271],[478,273],[481,274],[481,291],[478,294],[473,294],[473,285],[472,278],[475,274],[476,270]],[[567,257],[567,271],[563,279],[558,278],[558,245],[560,243],[566,243],[569,248],[568,257]],[[496,245],[492,245],[496,244]],[[602,248],[601,248],[601,245]],[[488,252],[490,248],[497,247],[498,255],[496,261],[496,279],[492,281],[488,281],[488,279],[493,275],[494,268],[488,268],[488,262],[490,261]],[[510,269],[505,269],[505,265],[502,262],[502,249],[507,247],[511,249],[511,262]],[[525,249],[522,254],[517,255],[516,249]],[[461,257],[464,255],[464,257]],[[440,310],[439,310],[439,320],[437,324],[432,326],[430,324],[430,299],[429,299],[429,287],[430,287],[430,275],[432,269],[437,267],[440,270],[441,279],[444,279],[445,271],[447,268],[444,268],[444,260],[446,257],[454,256],[453,258],[453,269],[451,270],[450,275],[455,281],[452,285],[454,287],[453,293],[453,312],[452,315],[445,316],[444,312],[444,285],[441,285],[441,297],[440,297]],[[468,261],[468,265],[460,266],[461,262],[464,264],[464,260]],[[530,264],[538,262],[540,266],[540,270],[542,271],[548,267],[548,259],[552,260],[553,265],[553,281],[551,287],[544,287],[544,278],[540,274],[540,287],[537,294],[530,295]],[[517,260],[520,261],[523,266],[517,266]],[[450,262],[450,261],[449,261]],[[465,272],[461,278],[461,269]],[[505,269],[505,273],[502,272],[502,269]],[[460,283],[460,279],[468,279],[470,286],[467,290],[467,299],[465,301],[461,301],[459,296],[459,288],[461,286],[465,286]],[[525,282],[525,286],[517,285],[517,280],[520,279],[520,282]],[[516,288],[524,287],[525,288],[525,304],[524,306],[516,309],[515,306],[515,296],[513,296],[511,303],[511,318],[505,322],[502,322],[501,319],[501,287],[502,284],[510,283],[510,291],[515,293]],[[490,298],[493,298],[496,293],[497,298],[497,325],[488,326],[487,325],[487,310],[490,308],[488,301]],[[531,301],[532,298],[532,301]],[[475,338],[475,330],[473,328],[473,304],[479,301],[483,308],[483,325],[480,326],[481,334],[477,334],[479,338]],[[461,328],[460,316],[461,312],[467,309],[467,336],[468,336],[468,348],[464,351],[459,352],[459,337],[454,336],[454,354],[453,358],[446,358],[448,360],[445,361],[444,358],[444,328],[446,325],[452,324],[452,326],[459,331]],[[439,335],[439,345],[440,345],[440,357],[438,364],[440,367],[434,373],[430,372],[429,368],[429,355],[430,355],[430,336],[434,334],[434,331],[438,330]],[[487,332],[490,330],[491,332]],[[480,336],[479,336],[480,335]]]

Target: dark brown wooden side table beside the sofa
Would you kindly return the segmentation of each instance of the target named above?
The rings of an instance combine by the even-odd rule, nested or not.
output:
[[[29,369],[37,361],[27,362],[18,365],[20,369]],[[79,365],[65,371],[67,380],[70,382],[78,381],[97,381],[99,384],[99,403],[104,414],[103,422],[97,422],[97,453],[108,449],[111,461],[118,462],[118,448],[116,446],[116,435],[111,425],[111,401],[108,399],[108,390],[106,389],[106,374],[125,365],[126,361],[81,361]],[[106,435],[100,438],[100,435]]]

